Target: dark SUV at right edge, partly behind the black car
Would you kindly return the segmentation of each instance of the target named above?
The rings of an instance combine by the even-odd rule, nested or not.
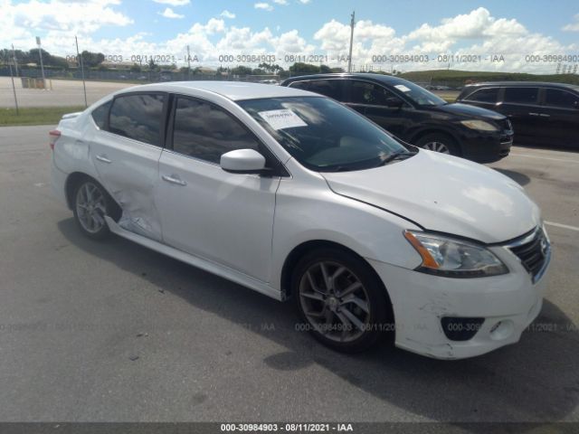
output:
[[[457,99],[508,116],[517,142],[579,147],[579,86],[494,82],[466,86]]]

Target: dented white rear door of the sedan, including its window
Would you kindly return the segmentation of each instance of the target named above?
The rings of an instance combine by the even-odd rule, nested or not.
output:
[[[158,161],[164,142],[166,94],[123,94],[113,100],[107,130],[90,140],[90,159],[122,209],[119,225],[161,241],[154,202]]]

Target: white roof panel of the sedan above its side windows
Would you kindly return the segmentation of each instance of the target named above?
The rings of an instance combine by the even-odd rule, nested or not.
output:
[[[117,95],[127,92],[139,91],[163,91],[176,92],[185,95],[195,95],[194,90],[206,90],[219,94],[233,101],[241,99],[262,99],[262,98],[280,98],[280,97],[319,97],[317,93],[308,92],[293,88],[281,86],[272,86],[271,84],[247,83],[242,81],[169,81],[166,83],[145,84],[142,86],[133,86],[119,92]]]

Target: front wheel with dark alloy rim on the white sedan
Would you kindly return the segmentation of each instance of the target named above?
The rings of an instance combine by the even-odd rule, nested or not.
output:
[[[339,352],[362,352],[384,332],[394,331],[382,281],[363,259],[344,250],[312,250],[300,259],[291,276],[291,294],[301,319],[298,329],[307,329]]]

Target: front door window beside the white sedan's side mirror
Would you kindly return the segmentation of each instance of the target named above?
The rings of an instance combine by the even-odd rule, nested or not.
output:
[[[219,164],[221,156],[235,149],[259,150],[259,142],[232,115],[198,99],[176,100],[173,150]]]

